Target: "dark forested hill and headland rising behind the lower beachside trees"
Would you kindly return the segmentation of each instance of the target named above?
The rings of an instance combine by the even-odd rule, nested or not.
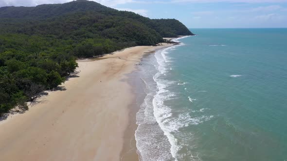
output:
[[[99,36],[136,45],[154,45],[162,41],[161,37],[192,35],[176,19],[149,19],[88,0],[36,7],[1,7],[0,20],[0,33],[52,34],[57,38]]]

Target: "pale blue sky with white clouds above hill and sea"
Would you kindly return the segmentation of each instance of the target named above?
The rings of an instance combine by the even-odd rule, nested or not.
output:
[[[72,0],[0,0],[36,6]],[[149,18],[176,18],[188,28],[287,28],[287,0],[93,0]]]

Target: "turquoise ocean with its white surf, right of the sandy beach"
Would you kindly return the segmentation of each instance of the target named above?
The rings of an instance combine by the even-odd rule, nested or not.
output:
[[[287,161],[287,29],[192,29],[143,58],[142,161]]]

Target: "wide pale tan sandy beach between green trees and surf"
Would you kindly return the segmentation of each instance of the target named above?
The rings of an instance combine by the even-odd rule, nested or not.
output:
[[[138,46],[77,61],[75,74],[59,90],[0,122],[1,160],[120,161],[126,153],[122,160],[138,160],[135,143],[130,144],[136,96],[128,74],[144,54],[168,46]]]

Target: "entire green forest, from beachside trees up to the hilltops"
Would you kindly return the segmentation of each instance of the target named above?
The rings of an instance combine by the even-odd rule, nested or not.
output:
[[[176,19],[150,19],[94,1],[0,7],[0,115],[65,81],[78,57],[193,35]]]

